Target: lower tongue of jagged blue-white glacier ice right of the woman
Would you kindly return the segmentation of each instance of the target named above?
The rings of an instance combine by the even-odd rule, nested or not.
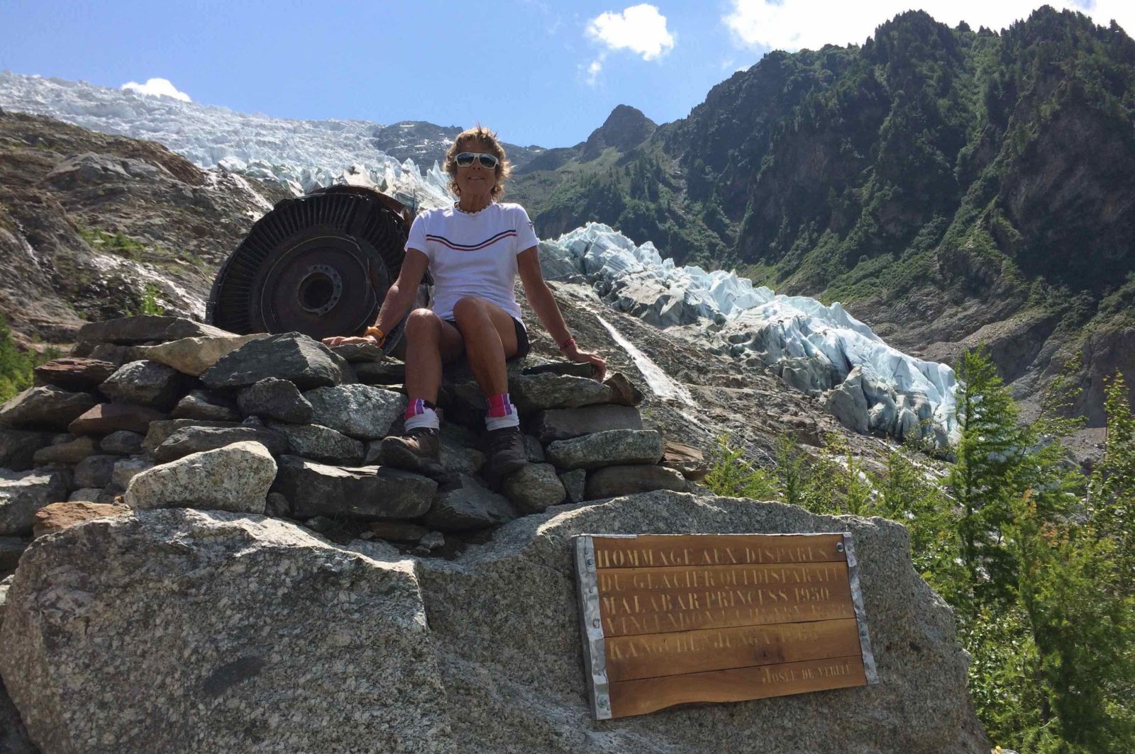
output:
[[[953,370],[892,348],[839,303],[779,295],[735,272],[678,266],[653,243],[636,244],[598,222],[541,240],[540,255],[549,277],[579,276],[616,310],[770,367],[851,429],[939,446],[958,437]]]

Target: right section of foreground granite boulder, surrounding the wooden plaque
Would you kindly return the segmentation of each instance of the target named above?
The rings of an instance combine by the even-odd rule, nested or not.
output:
[[[880,683],[592,721],[571,537],[850,531]],[[950,609],[883,519],[654,492],[519,518],[419,578],[463,752],[950,752],[987,754]]]

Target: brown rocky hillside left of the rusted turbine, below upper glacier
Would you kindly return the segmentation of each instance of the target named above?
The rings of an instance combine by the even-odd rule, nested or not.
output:
[[[203,316],[218,265],[284,195],[153,142],[0,111],[0,312],[57,344],[137,312],[148,287]]]

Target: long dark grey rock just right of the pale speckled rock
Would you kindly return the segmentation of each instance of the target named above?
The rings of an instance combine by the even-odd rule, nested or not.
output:
[[[287,498],[292,518],[377,520],[417,518],[429,510],[437,482],[385,466],[351,468],[284,456],[272,492]]]

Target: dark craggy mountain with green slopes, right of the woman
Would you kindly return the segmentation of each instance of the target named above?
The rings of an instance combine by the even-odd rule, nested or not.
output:
[[[1135,367],[1133,108],[1118,27],[1042,8],[998,34],[911,11],[861,46],[771,53],[631,149],[530,164],[512,195],[553,229],[587,217],[840,300],[927,358],[989,342],[1022,397],[1078,350],[1098,425],[1102,378]]]

